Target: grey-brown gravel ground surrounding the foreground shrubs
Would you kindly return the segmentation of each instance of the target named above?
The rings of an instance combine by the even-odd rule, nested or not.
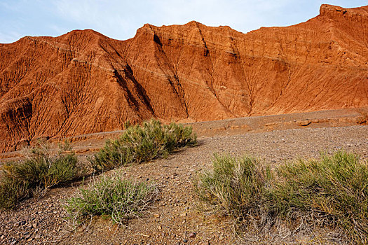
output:
[[[62,200],[73,195],[75,186],[64,186],[50,190],[41,200],[27,200],[17,211],[0,211],[0,244],[240,244],[229,223],[197,209],[191,181],[196,172],[211,166],[213,153],[249,153],[275,166],[285,160],[318,157],[320,151],[332,153],[341,148],[368,159],[368,126],[201,137],[196,148],[179,151],[168,159],[117,170],[126,178],[154,181],[161,190],[149,214],[132,220],[128,228],[95,218],[88,227],[70,232],[64,221]],[[325,236],[326,232],[255,237],[247,244],[341,242]]]

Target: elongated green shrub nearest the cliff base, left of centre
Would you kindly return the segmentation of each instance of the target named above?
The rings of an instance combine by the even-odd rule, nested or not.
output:
[[[142,125],[125,125],[125,132],[114,141],[107,141],[90,162],[95,171],[114,169],[132,163],[162,158],[184,146],[196,144],[196,134],[191,127],[159,120],[149,120]]]

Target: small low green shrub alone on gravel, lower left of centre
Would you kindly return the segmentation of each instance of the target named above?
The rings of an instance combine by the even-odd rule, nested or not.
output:
[[[141,216],[157,194],[156,186],[125,180],[114,174],[102,176],[88,188],[80,188],[76,197],[67,200],[65,209],[76,224],[92,216],[109,216],[114,223],[126,225],[130,218]]]

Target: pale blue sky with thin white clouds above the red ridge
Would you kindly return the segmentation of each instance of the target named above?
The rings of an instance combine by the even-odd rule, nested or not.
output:
[[[94,29],[125,40],[139,27],[185,24],[229,25],[247,32],[287,26],[319,13],[322,3],[353,8],[367,0],[0,0],[0,43],[22,36],[60,36],[73,29]]]

